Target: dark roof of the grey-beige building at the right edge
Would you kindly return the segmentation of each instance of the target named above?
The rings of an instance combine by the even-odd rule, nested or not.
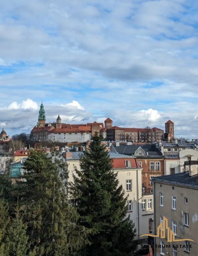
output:
[[[171,175],[153,177],[152,180],[155,182],[165,182],[173,185],[198,188],[198,174],[190,177],[188,171]]]

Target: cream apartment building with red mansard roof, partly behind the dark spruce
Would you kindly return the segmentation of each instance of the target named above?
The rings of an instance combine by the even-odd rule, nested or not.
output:
[[[63,152],[68,165],[68,182],[73,181],[74,166],[80,169],[79,158],[82,154],[83,152]],[[112,152],[109,155],[113,159],[113,170],[118,173],[118,180],[125,189],[125,195],[129,195],[128,214],[137,230],[135,240],[139,240],[142,234],[149,232],[149,226],[152,226],[149,221],[153,221],[153,194],[142,194],[142,168],[134,157]]]

